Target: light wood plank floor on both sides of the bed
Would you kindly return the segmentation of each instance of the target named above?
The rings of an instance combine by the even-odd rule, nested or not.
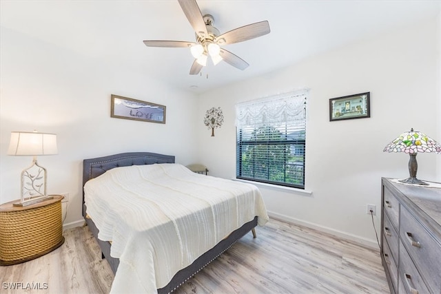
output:
[[[274,219],[256,232],[175,293],[389,293],[379,251]],[[0,266],[0,293],[108,293],[114,276],[88,227],[64,236],[41,258]],[[8,289],[14,282],[41,289]]]

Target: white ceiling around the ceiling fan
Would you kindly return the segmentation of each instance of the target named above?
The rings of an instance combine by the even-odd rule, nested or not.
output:
[[[234,83],[338,48],[436,17],[441,1],[198,1],[214,16],[220,33],[269,21],[271,32],[226,45],[249,63],[244,70],[209,62],[190,76],[186,48],[147,48],[143,40],[194,41],[194,31],[174,0],[8,1],[1,0],[1,25],[116,68],[143,72],[194,92]],[[207,78],[208,75],[208,78]]]

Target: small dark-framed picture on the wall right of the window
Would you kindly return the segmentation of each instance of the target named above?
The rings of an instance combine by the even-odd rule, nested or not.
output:
[[[370,93],[329,99],[329,121],[371,117]]]

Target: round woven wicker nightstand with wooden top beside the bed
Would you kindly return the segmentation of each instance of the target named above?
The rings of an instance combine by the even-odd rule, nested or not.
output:
[[[0,265],[18,264],[39,258],[64,242],[61,200],[53,199],[14,207],[0,205]]]

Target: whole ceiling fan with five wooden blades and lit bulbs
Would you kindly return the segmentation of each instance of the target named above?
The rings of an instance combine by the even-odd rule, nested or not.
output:
[[[189,48],[194,57],[190,74],[201,72],[202,67],[207,65],[208,56],[212,58],[214,65],[223,60],[239,70],[245,70],[249,66],[246,61],[220,46],[247,41],[270,32],[268,21],[260,21],[220,34],[213,26],[212,15],[203,16],[196,0],[178,0],[178,2],[196,33],[196,42],[161,40],[143,42],[147,47]]]

